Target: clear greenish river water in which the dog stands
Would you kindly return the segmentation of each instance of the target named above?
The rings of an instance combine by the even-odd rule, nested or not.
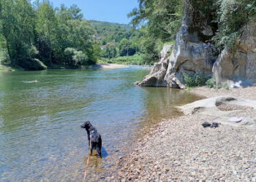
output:
[[[0,72],[0,181],[82,181],[86,120],[102,135],[102,159],[91,157],[87,179],[111,176],[138,128],[179,116],[174,106],[199,99],[133,84],[146,74],[141,67]]]

